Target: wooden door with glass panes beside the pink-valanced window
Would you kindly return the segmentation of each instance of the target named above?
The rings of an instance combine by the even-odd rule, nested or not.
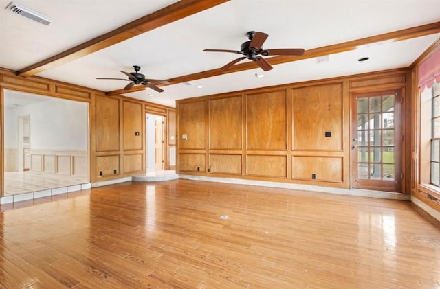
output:
[[[401,92],[353,95],[352,184],[401,192]]]

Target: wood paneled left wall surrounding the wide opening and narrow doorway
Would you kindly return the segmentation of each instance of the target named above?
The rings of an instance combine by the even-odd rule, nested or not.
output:
[[[167,117],[166,148],[175,147],[175,108],[134,100],[129,97],[107,96],[103,91],[56,82],[32,76],[16,76],[15,71],[0,69],[1,112],[3,89],[12,89],[89,103],[90,181],[107,181],[146,171],[145,115],[154,113]],[[1,117],[3,119],[3,117]],[[3,129],[3,124],[1,124]],[[2,131],[3,135],[3,131]],[[3,161],[3,138],[1,139]],[[168,164],[168,159],[166,159]],[[170,169],[166,165],[166,169]],[[1,169],[3,177],[3,168]],[[1,180],[3,187],[3,179]]]

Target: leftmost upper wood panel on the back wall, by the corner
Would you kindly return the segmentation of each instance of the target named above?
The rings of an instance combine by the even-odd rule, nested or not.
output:
[[[179,104],[179,148],[204,149],[206,139],[205,101]],[[182,135],[188,139],[182,140]]]

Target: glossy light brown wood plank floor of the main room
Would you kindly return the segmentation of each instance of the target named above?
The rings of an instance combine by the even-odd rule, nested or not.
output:
[[[3,205],[0,288],[440,288],[406,201],[176,180]]]

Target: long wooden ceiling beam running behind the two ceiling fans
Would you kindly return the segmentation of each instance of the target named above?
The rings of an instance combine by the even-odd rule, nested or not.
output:
[[[427,25],[421,25],[417,27],[412,27],[404,30],[398,30],[395,32],[389,32],[385,34],[379,34],[375,36],[370,36],[366,38],[360,38],[354,41],[347,41],[344,43],[338,43],[334,45],[327,45],[323,47],[318,47],[314,49],[308,49],[302,56],[273,56],[270,58],[265,58],[267,62],[271,65],[279,65],[286,62],[293,62],[297,60],[303,60],[308,58],[314,58],[318,56],[325,56],[329,54],[336,54],[345,51],[351,51],[357,49],[362,45],[368,45],[371,43],[377,43],[381,41],[402,41],[410,38],[416,38],[421,36],[426,36],[430,34],[440,33],[440,22],[430,23]],[[221,69],[211,69],[207,71],[201,71],[197,73],[188,74],[186,76],[178,76],[176,78],[170,78],[167,81],[170,84],[177,84],[181,82],[189,82],[192,80],[198,80],[201,78],[210,78],[212,76],[219,76],[227,73],[234,73],[239,71],[245,71],[249,69],[255,69],[255,62],[249,61],[239,65],[233,65],[227,70]],[[128,93],[129,91],[125,91]]]

